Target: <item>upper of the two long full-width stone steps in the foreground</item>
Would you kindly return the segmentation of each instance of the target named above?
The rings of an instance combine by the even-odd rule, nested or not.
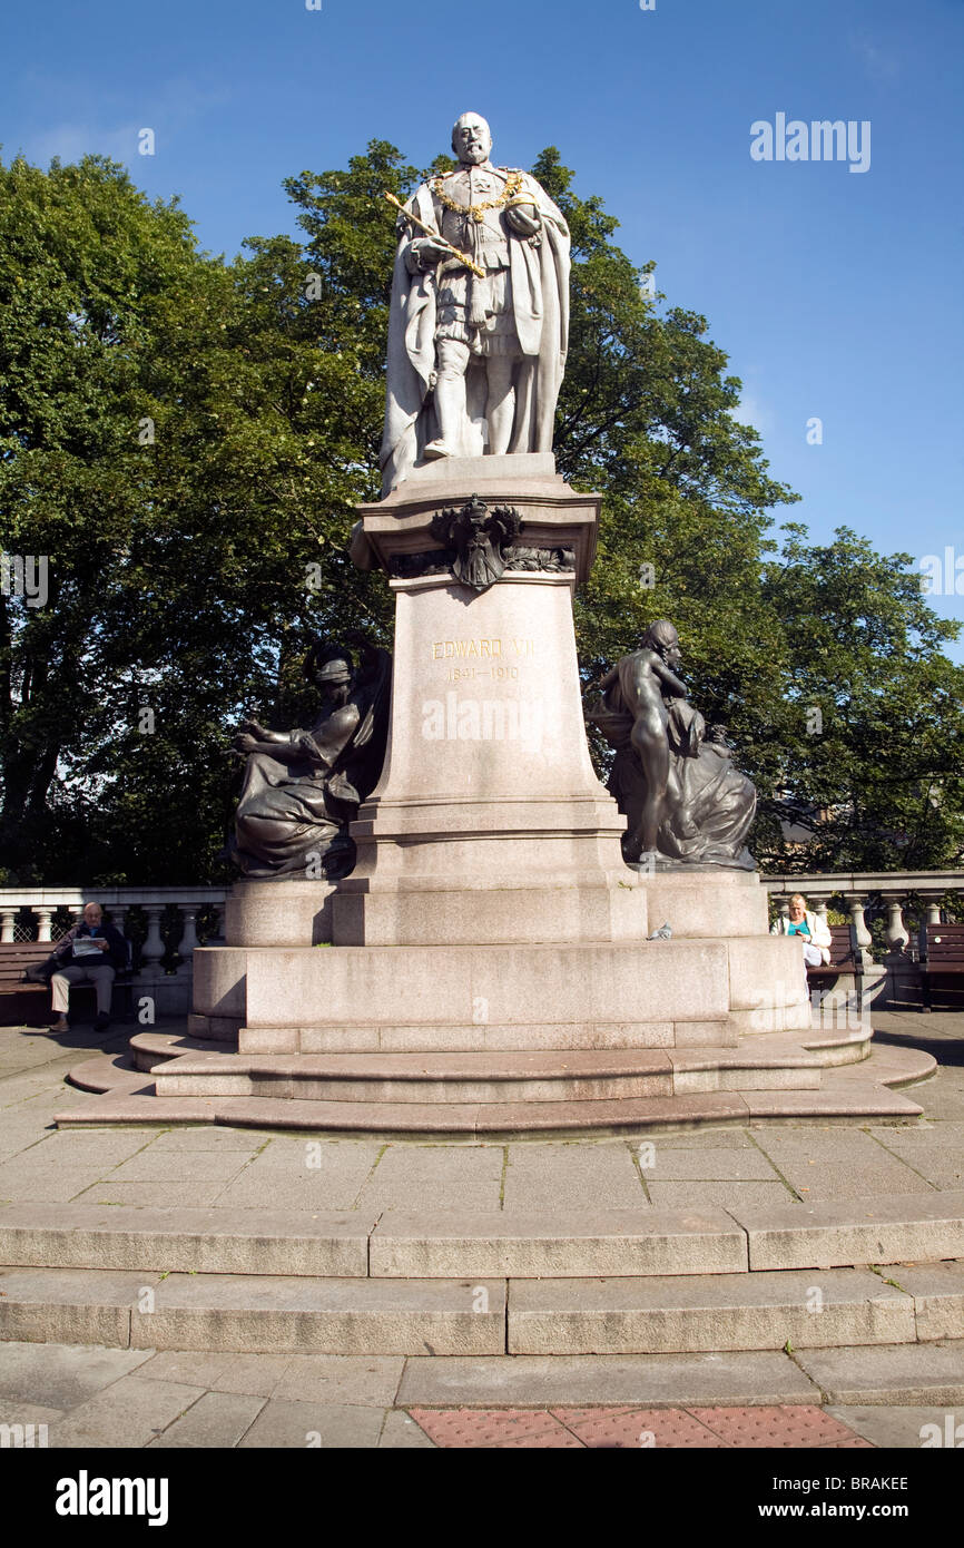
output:
[[[203,1158],[198,1156],[203,1166]],[[729,1209],[498,1212],[6,1204],[0,1263],[371,1279],[772,1272],[964,1259],[964,1190]],[[902,1271],[904,1272],[904,1271]],[[901,1279],[902,1274],[888,1276]]]

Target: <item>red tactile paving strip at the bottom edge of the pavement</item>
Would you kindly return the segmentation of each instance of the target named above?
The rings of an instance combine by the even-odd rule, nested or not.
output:
[[[409,1409],[436,1446],[577,1449],[795,1449],[873,1450],[870,1441],[808,1404],[746,1409]]]

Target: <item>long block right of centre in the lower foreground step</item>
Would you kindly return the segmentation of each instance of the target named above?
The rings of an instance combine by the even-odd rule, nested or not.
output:
[[[509,1286],[511,1354],[778,1350],[788,1341],[826,1348],[914,1336],[910,1296],[862,1269],[517,1279]]]

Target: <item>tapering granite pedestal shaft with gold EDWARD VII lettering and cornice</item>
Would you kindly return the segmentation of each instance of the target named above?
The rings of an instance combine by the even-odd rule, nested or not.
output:
[[[518,477],[531,463],[535,477]],[[444,550],[432,519],[473,495],[523,523],[484,590],[447,565],[433,573]],[[435,463],[364,508],[396,594],[391,729],[351,828],[357,864],[334,898],[336,946],[647,933],[645,889],[622,864],[625,824],[582,718],[573,590],[591,565],[597,508],[551,457]]]

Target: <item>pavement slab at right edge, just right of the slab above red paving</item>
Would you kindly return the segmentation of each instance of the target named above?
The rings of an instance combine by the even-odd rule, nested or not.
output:
[[[964,1342],[800,1350],[797,1361],[826,1402],[964,1404]]]

